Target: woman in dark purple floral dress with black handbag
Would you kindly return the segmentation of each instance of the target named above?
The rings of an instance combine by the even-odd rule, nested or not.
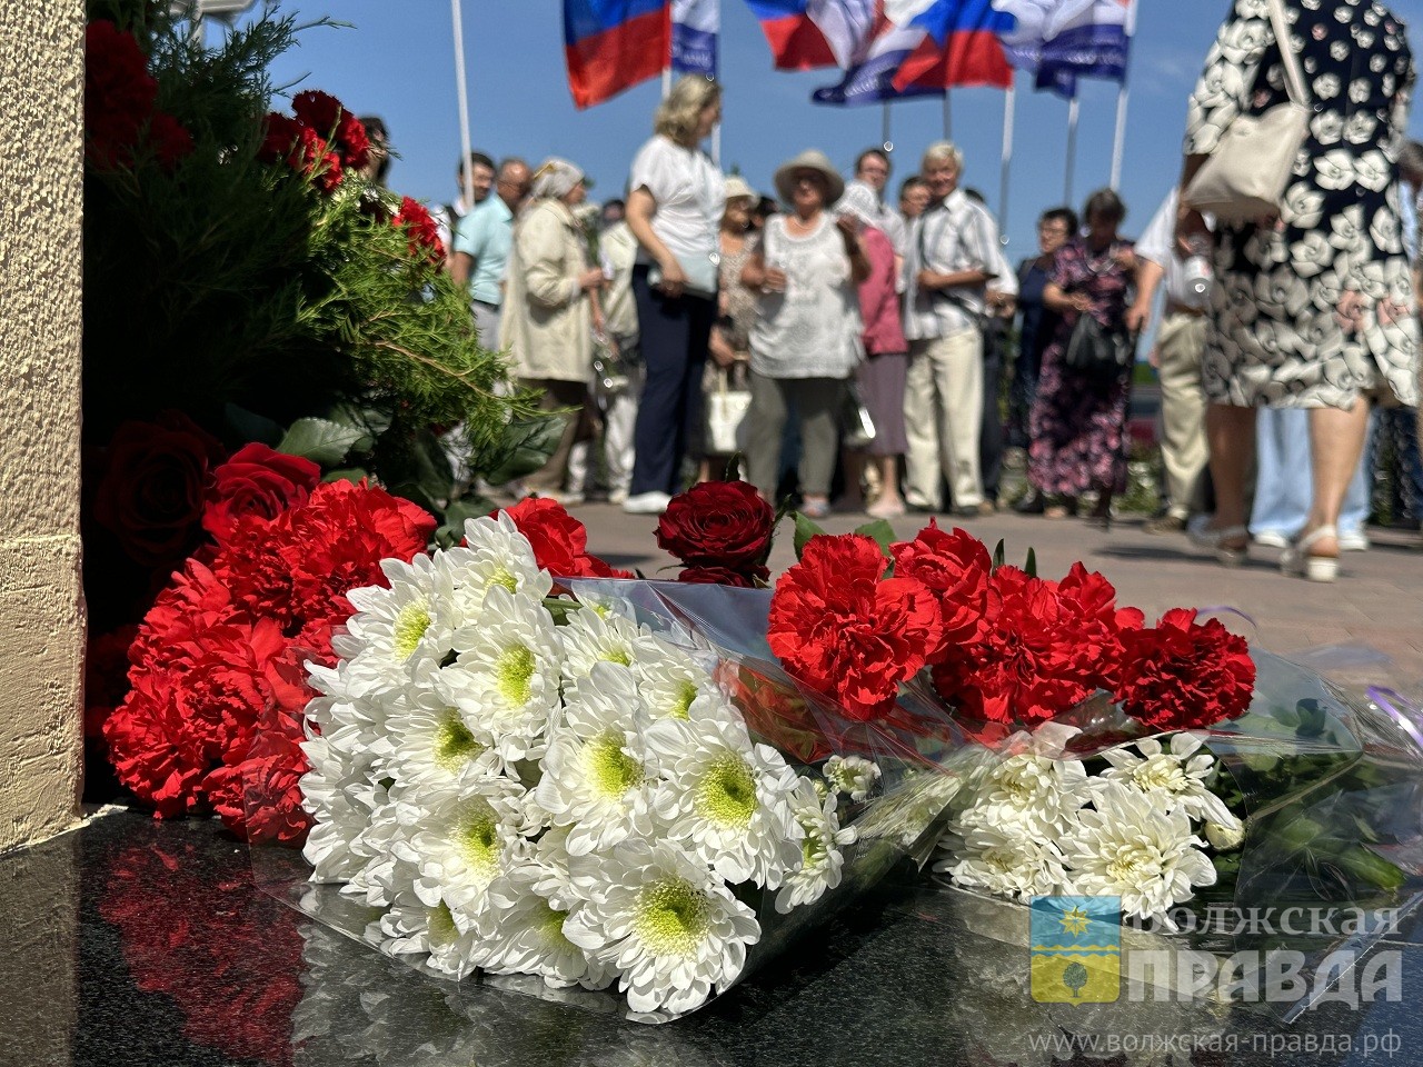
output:
[[[1063,245],[1043,286],[1043,306],[1060,314],[1043,350],[1037,396],[1029,417],[1027,481],[1044,498],[1050,519],[1077,514],[1077,498],[1097,491],[1091,518],[1111,521],[1111,497],[1127,488],[1127,386],[1131,367],[1101,380],[1067,366],[1067,344],[1080,316],[1111,331],[1126,329],[1137,259],[1117,226],[1127,208],[1099,189],[1083,209],[1087,233]]]

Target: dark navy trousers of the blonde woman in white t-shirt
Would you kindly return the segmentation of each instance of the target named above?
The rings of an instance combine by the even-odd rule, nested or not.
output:
[[[716,300],[699,296],[669,299],[647,285],[647,267],[632,272],[638,330],[647,381],[633,431],[635,460],[629,492],[670,492],[682,488],[682,460],[702,425],[702,371]]]

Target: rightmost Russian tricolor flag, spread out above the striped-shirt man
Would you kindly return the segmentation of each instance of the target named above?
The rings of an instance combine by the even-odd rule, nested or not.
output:
[[[1013,84],[1013,67],[999,36],[1015,26],[1013,16],[992,0],[885,0],[889,20],[918,27],[926,37],[894,75],[896,90],[938,85]]]

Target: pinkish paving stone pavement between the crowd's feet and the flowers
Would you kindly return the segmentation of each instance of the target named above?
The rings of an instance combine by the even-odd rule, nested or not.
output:
[[[588,548],[615,566],[657,578],[673,561],[657,548],[656,516],[625,515],[608,504],[573,514],[588,526]],[[842,534],[864,516],[832,515],[822,525]],[[894,522],[911,536],[928,521],[906,515]],[[1032,546],[1039,573],[1060,576],[1074,561],[1101,570],[1118,602],[1154,619],[1168,607],[1232,607],[1248,616],[1222,616],[1231,629],[1261,647],[1298,659],[1348,684],[1387,683],[1423,697],[1423,543],[1419,534],[1373,529],[1368,552],[1349,552],[1335,583],[1305,582],[1279,573],[1279,552],[1255,548],[1249,561],[1222,568],[1192,548],[1185,535],[1151,536],[1143,519],[1128,516],[1110,532],[1077,519],[1053,522],[1012,512],[985,518],[939,519],[959,525],[989,548],[1002,538],[1009,562],[1022,563]],[[771,570],[794,562],[790,522],[777,532]],[[676,572],[666,570],[670,578]],[[1251,625],[1254,623],[1254,625]]]

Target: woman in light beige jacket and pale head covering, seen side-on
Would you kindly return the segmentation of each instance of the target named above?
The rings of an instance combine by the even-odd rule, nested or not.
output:
[[[499,347],[507,349],[519,384],[544,394],[546,411],[576,408],[548,462],[524,488],[568,504],[564,492],[573,444],[592,430],[588,383],[593,374],[593,330],[602,329],[596,293],[602,267],[589,266],[583,228],[573,208],[583,202],[583,172],[566,159],[548,159],[534,175],[534,202],[514,226],[505,280]]]

